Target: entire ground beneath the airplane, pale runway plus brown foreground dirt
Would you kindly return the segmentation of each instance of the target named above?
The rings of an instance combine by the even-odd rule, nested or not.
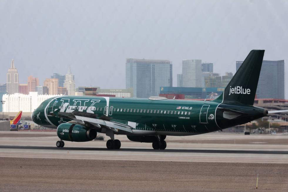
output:
[[[57,148],[56,133],[0,132],[0,191],[255,191],[257,173],[257,191],[288,191],[288,135],[116,138]]]

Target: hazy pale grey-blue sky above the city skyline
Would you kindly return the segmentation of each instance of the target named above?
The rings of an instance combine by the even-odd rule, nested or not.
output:
[[[236,71],[250,50],[288,61],[288,1],[0,1],[0,83],[66,74],[76,86],[125,88],[126,58],[183,59]],[[287,74],[287,67],[285,71]],[[286,78],[286,85],[288,78]],[[286,98],[288,89],[286,89]]]

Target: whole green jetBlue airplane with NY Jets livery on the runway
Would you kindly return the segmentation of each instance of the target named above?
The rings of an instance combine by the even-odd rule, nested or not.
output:
[[[47,99],[32,113],[41,126],[57,129],[64,141],[84,142],[106,133],[108,149],[119,149],[115,135],[127,135],[136,142],[152,143],[165,149],[166,136],[188,136],[241,125],[270,113],[253,106],[264,50],[252,50],[223,93],[213,101],[174,100],[152,96],[115,98],[58,96]]]

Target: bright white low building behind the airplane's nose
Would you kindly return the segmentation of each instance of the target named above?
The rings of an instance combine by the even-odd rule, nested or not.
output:
[[[38,95],[38,92],[29,92],[29,95],[20,93],[4,94],[2,100],[4,112],[33,112],[43,101],[61,95]]]

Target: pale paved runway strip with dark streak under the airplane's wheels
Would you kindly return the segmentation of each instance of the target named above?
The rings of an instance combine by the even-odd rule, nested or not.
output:
[[[22,136],[17,137],[18,134]],[[27,137],[23,136],[25,134]],[[4,132],[0,136],[0,156],[125,161],[288,163],[288,145],[281,144],[286,138],[288,140],[287,135],[243,137],[240,134],[224,134],[218,137],[217,134],[210,134],[189,136],[190,140],[185,138],[181,143],[178,142],[181,137],[167,137],[165,150],[153,150],[151,143],[132,142],[126,136],[117,136],[122,144],[120,150],[108,150],[106,141],[81,143],[65,141],[64,148],[57,148],[55,143],[58,137],[55,135],[56,133],[14,132],[11,136],[11,132]],[[231,140],[233,137],[235,137],[235,144],[219,144],[219,141]],[[197,138],[196,141],[199,143],[191,143],[193,138]],[[221,139],[215,140],[215,138]],[[236,144],[236,140],[246,141],[247,144]],[[257,142],[258,140],[267,142]],[[278,140],[280,144],[277,144]],[[201,141],[210,143],[201,143]]]

